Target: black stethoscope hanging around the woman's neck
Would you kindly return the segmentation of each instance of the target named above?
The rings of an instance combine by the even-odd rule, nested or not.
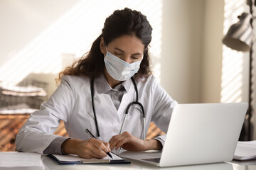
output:
[[[144,108],[142,106],[142,103],[139,103],[138,102],[138,89],[137,89],[137,85],[135,83],[135,80],[134,78],[132,77],[132,83],[134,84],[134,89],[136,91],[136,101],[133,101],[132,103],[129,103],[129,105],[127,106],[127,109],[125,110],[125,115],[124,115],[124,120],[122,122],[122,126],[121,126],[121,130],[119,132],[119,134],[122,134],[122,130],[124,128],[124,123],[125,123],[125,120],[127,118],[127,115],[129,113],[129,108],[131,108],[131,106],[133,105],[139,105],[140,108],[142,108],[142,115],[143,115],[143,134],[144,134],[144,140],[146,139],[146,130],[145,130],[145,113],[144,113]],[[96,131],[97,131],[97,136],[100,140],[100,130],[99,130],[99,127],[98,127],[98,124],[97,124],[97,115],[95,113],[95,106],[94,106],[94,88],[93,88],[93,85],[94,85],[94,79],[91,79],[90,81],[90,90],[91,90],[91,95],[92,95],[92,111],[93,111],[93,114],[95,116],[95,126],[96,126]]]

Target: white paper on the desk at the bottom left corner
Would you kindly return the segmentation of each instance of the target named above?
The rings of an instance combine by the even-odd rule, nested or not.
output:
[[[44,169],[41,154],[28,152],[0,152],[1,167],[40,167]]]

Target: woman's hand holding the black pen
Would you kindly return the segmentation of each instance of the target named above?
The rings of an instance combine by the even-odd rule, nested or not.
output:
[[[66,154],[77,154],[79,157],[92,159],[107,157],[110,152],[110,144],[91,138],[90,140],[68,139],[63,142],[61,148]]]

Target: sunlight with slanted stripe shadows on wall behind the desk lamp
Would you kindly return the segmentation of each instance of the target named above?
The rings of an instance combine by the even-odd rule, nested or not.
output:
[[[238,16],[242,12],[245,12],[245,2],[246,1],[240,0],[225,0],[223,35],[228,32],[228,29],[233,23],[238,22]],[[245,84],[247,80],[243,75],[245,74],[243,69],[247,69],[247,67],[245,67],[245,56],[247,56],[247,52],[231,50],[229,47],[223,45],[220,102],[228,103],[247,100],[247,91],[244,89],[244,87],[247,86],[247,84]]]

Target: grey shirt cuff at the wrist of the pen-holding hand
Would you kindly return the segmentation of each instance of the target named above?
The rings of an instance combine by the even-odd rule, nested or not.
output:
[[[61,145],[69,137],[56,137],[46,149],[44,149],[43,154],[65,154],[62,152]]]

